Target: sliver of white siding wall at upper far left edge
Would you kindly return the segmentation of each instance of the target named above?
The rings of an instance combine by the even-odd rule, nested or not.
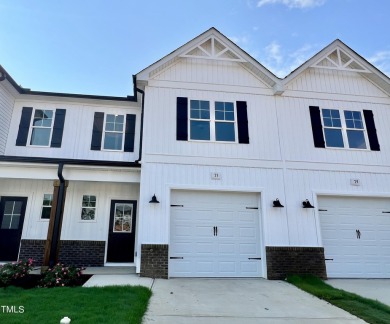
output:
[[[5,152],[15,98],[0,83],[0,155]]]

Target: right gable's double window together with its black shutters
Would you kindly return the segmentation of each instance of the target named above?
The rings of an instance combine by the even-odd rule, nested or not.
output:
[[[310,106],[314,146],[380,151],[372,110]]]

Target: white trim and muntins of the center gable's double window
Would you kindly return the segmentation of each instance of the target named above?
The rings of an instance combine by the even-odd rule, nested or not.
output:
[[[191,100],[196,101],[208,101],[210,105],[210,119],[197,119],[191,118]],[[216,102],[231,102],[233,104],[233,113],[234,113],[234,121],[225,121],[225,120],[215,120],[215,103]],[[237,104],[235,101],[224,101],[224,100],[207,100],[207,99],[192,99],[188,98],[188,121],[187,121],[187,129],[188,129],[188,141],[189,142],[201,142],[201,143],[221,143],[221,144],[237,144],[238,143],[238,125],[237,125]],[[210,139],[209,140],[197,140],[191,138],[191,121],[208,121],[210,123]],[[217,141],[215,134],[215,123],[234,123],[234,141]]]

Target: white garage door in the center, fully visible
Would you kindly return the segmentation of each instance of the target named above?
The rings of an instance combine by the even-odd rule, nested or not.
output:
[[[261,277],[259,195],[172,191],[170,277]]]

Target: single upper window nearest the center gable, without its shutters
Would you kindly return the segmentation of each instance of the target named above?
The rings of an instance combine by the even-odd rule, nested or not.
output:
[[[105,150],[123,149],[124,122],[124,115],[106,115],[103,138]]]

